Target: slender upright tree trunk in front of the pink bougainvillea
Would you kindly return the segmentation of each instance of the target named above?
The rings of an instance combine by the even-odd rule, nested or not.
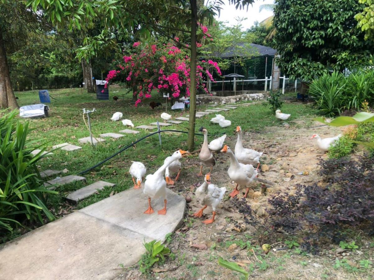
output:
[[[196,26],[197,5],[196,0],[190,0],[191,4],[191,72],[190,72],[190,120],[188,122],[188,150],[193,151],[195,137],[196,114]]]

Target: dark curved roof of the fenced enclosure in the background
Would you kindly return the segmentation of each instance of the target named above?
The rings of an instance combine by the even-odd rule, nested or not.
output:
[[[227,52],[224,52],[220,57],[233,57],[233,56],[247,56],[248,52],[253,56],[274,56],[277,50],[258,44],[238,43],[236,46],[231,47]]]

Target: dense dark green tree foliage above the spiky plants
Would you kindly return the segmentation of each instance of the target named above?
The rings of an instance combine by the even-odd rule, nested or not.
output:
[[[373,43],[364,40],[356,0],[276,0],[274,26],[278,65],[291,78],[312,80],[329,70],[354,69],[367,60]]]

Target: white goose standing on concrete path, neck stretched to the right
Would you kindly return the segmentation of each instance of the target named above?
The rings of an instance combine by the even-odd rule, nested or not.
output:
[[[174,154],[169,157],[169,159],[164,162],[164,164],[157,169],[156,172],[153,174],[148,174],[147,177],[145,177],[144,182],[144,190],[143,193],[148,196],[148,209],[144,212],[144,214],[152,214],[154,213],[152,207],[151,207],[151,198],[157,199],[159,197],[163,197],[165,207],[158,211],[159,215],[165,215],[166,214],[166,181],[163,178],[163,172],[165,171],[166,167],[171,164],[174,160],[181,159],[183,154],[187,153],[183,150],[175,151]]]

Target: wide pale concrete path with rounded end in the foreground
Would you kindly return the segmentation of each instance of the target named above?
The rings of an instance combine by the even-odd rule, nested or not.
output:
[[[148,207],[141,190],[127,190],[71,213],[0,247],[1,279],[113,279],[145,252],[144,240],[165,240],[181,224],[186,200],[167,189]],[[22,269],[19,269],[22,264]]]

